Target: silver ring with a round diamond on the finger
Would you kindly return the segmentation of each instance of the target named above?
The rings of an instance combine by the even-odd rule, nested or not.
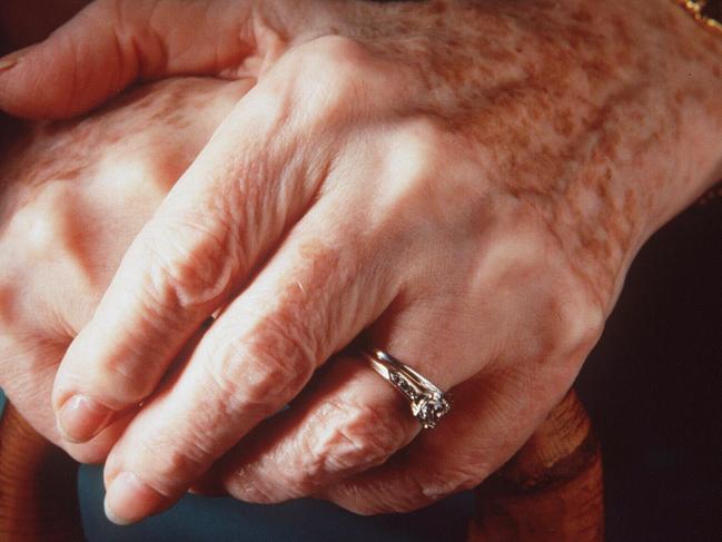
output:
[[[372,367],[408,400],[412,414],[425,430],[433,430],[451,405],[437,386],[416,371],[378,348],[367,348],[364,354]]]

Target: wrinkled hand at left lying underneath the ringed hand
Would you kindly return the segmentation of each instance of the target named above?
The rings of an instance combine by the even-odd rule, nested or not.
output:
[[[168,80],[79,121],[3,126],[0,386],[80,461],[105,460],[127,420],[85,444],[61,441],[50,403],[60,359],[135,235],[248,87]]]

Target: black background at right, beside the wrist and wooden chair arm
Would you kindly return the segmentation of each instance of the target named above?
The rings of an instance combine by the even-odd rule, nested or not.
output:
[[[642,249],[577,390],[602,442],[609,540],[722,541],[720,197]]]

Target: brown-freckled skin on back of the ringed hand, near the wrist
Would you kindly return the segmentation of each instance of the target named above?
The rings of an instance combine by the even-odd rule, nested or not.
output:
[[[722,128],[720,40],[670,4],[364,6],[347,32],[422,75],[417,107],[444,111],[442,125],[472,148],[494,149],[489,177],[541,214],[571,265],[610,298],[640,237],[676,210],[650,191],[699,195],[699,176],[674,157]],[[643,17],[625,16],[635,11]],[[674,39],[661,41],[665,33]],[[706,118],[689,118],[685,102]]]

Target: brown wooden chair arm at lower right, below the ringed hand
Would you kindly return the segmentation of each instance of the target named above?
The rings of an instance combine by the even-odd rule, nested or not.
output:
[[[602,454],[573,391],[475,496],[472,542],[604,540]]]

